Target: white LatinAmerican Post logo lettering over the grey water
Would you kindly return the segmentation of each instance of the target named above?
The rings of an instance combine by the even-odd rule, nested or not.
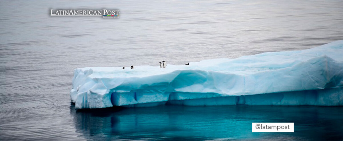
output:
[[[54,10],[50,9],[50,16],[102,16],[103,18],[119,18],[119,10]]]

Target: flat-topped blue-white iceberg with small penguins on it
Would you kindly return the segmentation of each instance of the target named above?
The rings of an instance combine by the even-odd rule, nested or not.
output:
[[[190,65],[76,68],[76,109],[112,106],[343,105],[343,40]]]

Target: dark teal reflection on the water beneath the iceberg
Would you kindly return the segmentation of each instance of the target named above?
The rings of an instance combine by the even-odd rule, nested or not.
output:
[[[335,140],[343,138],[343,107],[178,106],[75,110],[87,140]],[[251,123],[294,123],[291,133],[252,133]]]

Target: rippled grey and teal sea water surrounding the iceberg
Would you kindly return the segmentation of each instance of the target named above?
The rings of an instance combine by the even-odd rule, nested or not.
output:
[[[342,140],[343,107],[165,105],[76,111],[73,69],[186,64],[343,39],[343,1],[1,1],[0,140]],[[119,9],[119,19],[50,9]],[[294,133],[252,133],[294,122]]]

